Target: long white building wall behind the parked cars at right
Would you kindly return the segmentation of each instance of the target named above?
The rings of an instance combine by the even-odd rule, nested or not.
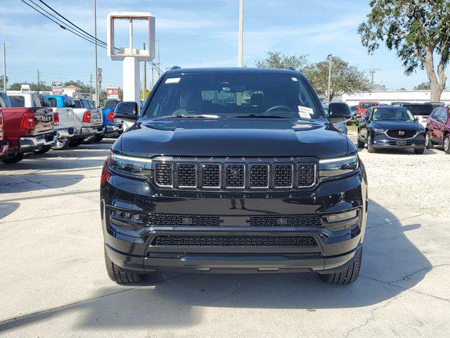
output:
[[[384,90],[377,92],[361,92],[356,94],[342,95],[342,101],[349,106],[355,106],[360,101],[375,101],[380,104],[391,104],[396,101],[404,102],[430,102],[431,93],[429,90]],[[444,90],[441,95],[441,102],[450,104],[450,90]]]

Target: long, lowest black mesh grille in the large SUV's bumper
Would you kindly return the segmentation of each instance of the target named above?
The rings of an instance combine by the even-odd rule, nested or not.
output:
[[[245,246],[245,247],[314,247],[317,242],[312,236],[201,236],[160,235],[153,246]]]

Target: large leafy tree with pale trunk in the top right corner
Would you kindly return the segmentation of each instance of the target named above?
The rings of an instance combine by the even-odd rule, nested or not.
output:
[[[441,101],[450,52],[450,0],[372,0],[370,5],[371,12],[358,27],[368,53],[383,43],[397,51],[406,75],[418,66],[425,68],[431,101]]]

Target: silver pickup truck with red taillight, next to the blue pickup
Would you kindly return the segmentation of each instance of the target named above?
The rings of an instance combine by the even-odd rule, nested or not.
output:
[[[105,132],[101,108],[86,99],[70,98],[73,104],[75,136],[70,139],[69,146],[79,146],[84,139]]]

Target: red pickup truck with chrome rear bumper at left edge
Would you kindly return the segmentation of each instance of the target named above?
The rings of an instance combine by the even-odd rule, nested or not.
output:
[[[12,108],[5,92],[0,91],[4,140],[8,151],[3,163],[17,163],[26,153],[44,153],[56,142],[51,108]]]

